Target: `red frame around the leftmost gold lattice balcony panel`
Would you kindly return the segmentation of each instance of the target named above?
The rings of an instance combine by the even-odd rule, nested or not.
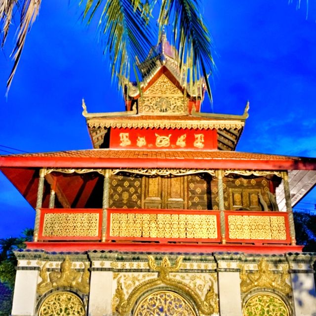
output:
[[[99,214],[99,227],[98,236],[43,236],[44,218],[45,214],[86,214],[96,213]],[[40,210],[40,229],[39,229],[39,240],[101,240],[101,229],[102,229],[102,209],[78,209],[78,208],[42,208]]]

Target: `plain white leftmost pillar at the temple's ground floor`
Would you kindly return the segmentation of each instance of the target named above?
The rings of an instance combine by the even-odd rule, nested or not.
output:
[[[12,316],[35,316],[38,277],[38,270],[17,270]]]

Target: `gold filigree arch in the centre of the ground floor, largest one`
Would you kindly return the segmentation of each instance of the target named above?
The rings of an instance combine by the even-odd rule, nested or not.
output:
[[[140,301],[133,316],[197,316],[191,304],[172,291],[157,291]]]

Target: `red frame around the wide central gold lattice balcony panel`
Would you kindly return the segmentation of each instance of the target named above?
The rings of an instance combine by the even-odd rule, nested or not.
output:
[[[111,236],[111,215],[114,213],[125,213],[125,214],[185,214],[185,215],[215,215],[217,224],[217,237],[216,238],[161,238],[161,237],[117,237]],[[118,209],[110,208],[108,209],[107,218],[107,239],[111,240],[143,240],[143,241],[159,241],[160,243],[165,243],[169,241],[176,242],[190,242],[190,241],[200,241],[200,242],[220,242],[220,213],[219,211],[197,211],[197,210],[178,210],[178,209]]]

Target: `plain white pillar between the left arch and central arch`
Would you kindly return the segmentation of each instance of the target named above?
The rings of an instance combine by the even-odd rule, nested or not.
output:
[[[112,315],[111,271],[91,271],[88,316]]]

